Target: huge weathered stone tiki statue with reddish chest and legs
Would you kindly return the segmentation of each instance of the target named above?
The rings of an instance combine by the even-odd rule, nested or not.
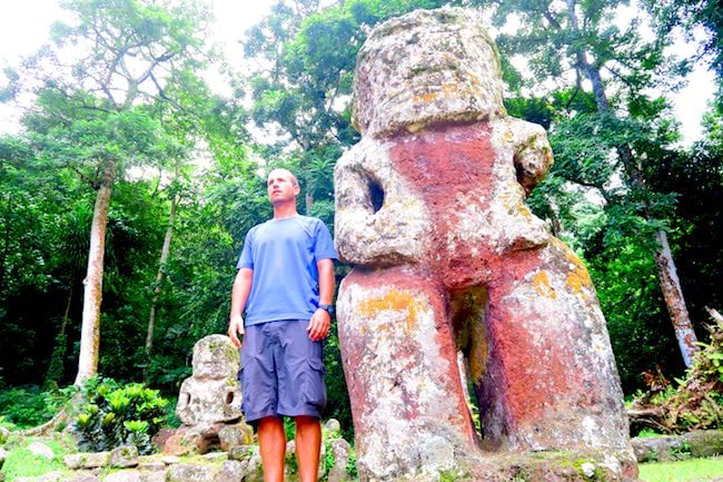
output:
[[[553,160],[545,131],[506,115],[481,19],[377,27],[354,96],[363,137],[336,167],[335,227],[354,265],[338,329],[361,480],[505,480],[492,459],[551,450],[604,453],[607,480],[634,478],[591,279],[524,203]]]

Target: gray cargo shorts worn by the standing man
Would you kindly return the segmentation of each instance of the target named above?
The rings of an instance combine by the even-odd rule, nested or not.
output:
[[[324,345],[313,342],[308,319],[247,326],[241,346],[241,411],[247,422],[266,416],[320,417],[326,405]]]

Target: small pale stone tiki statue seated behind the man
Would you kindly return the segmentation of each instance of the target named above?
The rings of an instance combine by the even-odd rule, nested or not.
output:
[[[176,415],[184,423],[164,452],[205,453],[219,444],[250,444],[252,430],[241,414],[241,385],[237,380],[239,353],[225,335],[207,336],[194,346],[194,373],[181,384]]]

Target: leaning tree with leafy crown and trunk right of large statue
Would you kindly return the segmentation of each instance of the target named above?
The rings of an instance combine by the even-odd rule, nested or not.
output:
[[[648,94],[662,73],[674,83],[685,71],[665,56],[672,39],[645,39],[640,33],[643,17],[616,22],[623,2],[615,0],[489,3],[498,26],[512,17],[519,21],[514,33],[498,38],[503,57],[524,56],[538,86],[555,86],[536,92],[554,98],[557,111],[555,173],[593,189],[611,219],[628,223],[631,235],[645,238],[690,365],[696,337],[667,240],[672,199],[646,180],[650,166],[677,139],[665,100]]]

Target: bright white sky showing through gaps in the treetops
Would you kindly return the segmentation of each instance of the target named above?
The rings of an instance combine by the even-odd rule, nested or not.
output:
[[[242,32],[268,13],[274,0],[210,0],[216,13],[216,40],[225,45],[229,59],[241,55]],[[9,0],[0,16],[0,68],[17,63],[21,56],[33,53],[48,38],[50,24],[61,19],[58,0]],[[675,116],[682,122],[685,144],[700,138],[701,115],[712,98],[713,75],[702,66],[690,77],[690,83],[673,98]],[[0,134],[17,131],[17,118],[0,105]]]

